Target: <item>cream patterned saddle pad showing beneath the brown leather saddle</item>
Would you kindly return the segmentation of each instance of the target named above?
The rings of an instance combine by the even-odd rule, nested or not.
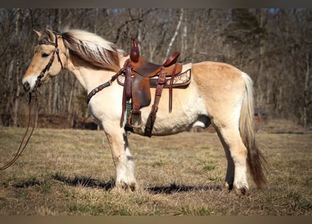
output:
[[[191,63],[184,64],[181,73],[179,73],[177,76],[175,76],[173,80],[172,87],[182,87],[185,85],[189,85],[191,82]],[[171,77],[166,78],[166,83],[164,87],[170,86],[170,79]],[[153,78],[149,78],[149,83],[151,87],[156,87],[158,81],[158,76],[154,76]],[[118,76],[117,82],[119,85],[124,85],[125,83],[125,76],[124,74],[121,74],[121,76]]]

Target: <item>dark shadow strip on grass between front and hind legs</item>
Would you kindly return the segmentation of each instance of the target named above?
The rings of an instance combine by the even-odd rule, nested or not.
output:
[[[178,192],[188,192],[192,190],[222,190],[221,186],[184,186],[172,183],[170,186],[156,186],[147,188],[153,194],[172,194]]]

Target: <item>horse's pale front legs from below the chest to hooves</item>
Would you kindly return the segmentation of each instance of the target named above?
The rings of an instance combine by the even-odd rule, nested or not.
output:
[[[123,132],[119,134],[106,133],[106,135],[116,167],[116,187],[135,190],[137,187],[135,162],[129,150],[127,134]]]

